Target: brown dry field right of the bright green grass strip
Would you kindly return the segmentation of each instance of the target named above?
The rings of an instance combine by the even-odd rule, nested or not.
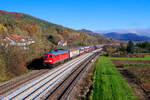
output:
[[[124,58],[125,59],[125,58]],[[140,100],[150,98],[150,61],[149,60],[112,60]]]

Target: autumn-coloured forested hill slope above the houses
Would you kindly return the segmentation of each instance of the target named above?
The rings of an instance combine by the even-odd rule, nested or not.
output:
[[[59,40],[68,41],[70,45],[97,44],[98,39],[61,25],[53,24],[23,13],[0,10],[0,34],[20,34],[48,40],[56,45]],[[47,42],[46,42],[47,43]]]

